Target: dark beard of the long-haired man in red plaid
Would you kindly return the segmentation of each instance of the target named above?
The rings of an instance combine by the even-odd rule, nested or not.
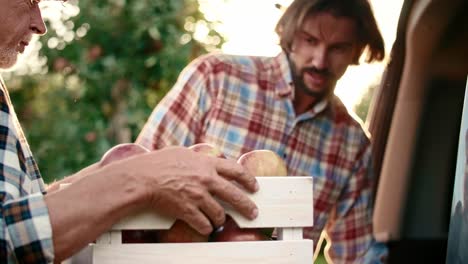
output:
[[[299,72],[297,70],[296,65],[294,62],[290,61],[291,64],[291,69],[292,69],[292,75],[293,75],[293,81],[294,81],[294,87],[296,89],[301,90],[304,94],[308,96],[312,96],[317,98],[318,100],[321,100],[325,97],[328,97],[331,93],[333,93],[333,88],[334,88],[334,83],[329,83],[327,87],[324,87],[320,91],[314,91],[310,89],[304,82],[304,75],[306,72],[309,73],[314,73],[317,75],[321,75],[325,77],[327,80],[332,80],[333,75],[332,73],[327,69],[317,69],[316,67],[307,67],[301,69]]]

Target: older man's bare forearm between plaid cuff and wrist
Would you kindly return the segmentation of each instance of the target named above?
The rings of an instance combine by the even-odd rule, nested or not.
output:
[[[83,174],[84,175],[84,174]],[[106,167],[45,196],[55,257],[63,260],[138,208],[138,182]]]

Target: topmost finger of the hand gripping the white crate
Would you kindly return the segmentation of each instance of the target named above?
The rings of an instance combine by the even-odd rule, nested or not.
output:
[[[233,180],[242,185],[246,190],[256,192],[258,190],[258,182],[241,165],[227,159],[216,159],[216,171],[222,177]]]

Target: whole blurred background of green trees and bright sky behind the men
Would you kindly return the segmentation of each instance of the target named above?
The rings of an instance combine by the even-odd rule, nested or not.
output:
[[[387,52],[402,0],[372,0]],[[42,1],[49,32],[4,72],[47,183],[134,141],[195,57],[274,56],[274,27],[291,0]],[[386,62],[351,67],[338,94],[365,121]]]

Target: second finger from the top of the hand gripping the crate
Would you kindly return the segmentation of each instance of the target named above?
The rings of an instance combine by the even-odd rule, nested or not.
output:
[[[211,189],[213,195],[229,203],[239,213],[249,219],[255,219],[258,215],[258,208],[247,195],[233,183],[220,179]]]

